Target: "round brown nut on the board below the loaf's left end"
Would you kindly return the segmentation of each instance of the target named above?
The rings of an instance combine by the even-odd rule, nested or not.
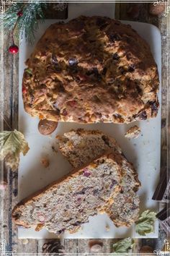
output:
[[[58,127],[58,122],[42,119],[39,121],[38,130],[41,135],[50,135]]]

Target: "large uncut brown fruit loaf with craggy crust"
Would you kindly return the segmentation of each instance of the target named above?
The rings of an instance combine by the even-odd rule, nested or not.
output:
[[[26,61],[24,109],[51,121],[129,123],[158,112],[158,70],[130,25],[78,17],[50,25]]]

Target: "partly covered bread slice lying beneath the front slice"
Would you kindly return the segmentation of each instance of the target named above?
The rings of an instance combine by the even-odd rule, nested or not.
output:
[[[138,174],[133,166],[122,155],[120,146],[111,136],[97,130],[77,129],[58,136],[58,146],[74,168],[92,161],[104,152],[112,150],[119,157],[122,178],[120,192],[117,193],[111,205],[106,205],[104,211],[109,215],[115,226],[130,226],[138,219],[139,197],[136,194],[140,187]]]

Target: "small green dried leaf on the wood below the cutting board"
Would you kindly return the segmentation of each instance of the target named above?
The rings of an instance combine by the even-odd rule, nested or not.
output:
[[[114,249],[113,254],[117,253],[128,253],[130,249],[133,247],[133,239],[130,237],[120,240],[119,242],[112,245]]]

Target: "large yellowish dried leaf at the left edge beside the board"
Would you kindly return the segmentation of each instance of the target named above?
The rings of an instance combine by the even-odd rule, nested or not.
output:
[[[24,139],[22,132],[18,132],[15,129],[12,132],[4,131],[0,133],[1,142],[1,160],[5,160],[6,165],[9,166],[12,171],[16,171],[19,166],[19,154],[22,152],[26,155],[30,149],[27,141]]]

